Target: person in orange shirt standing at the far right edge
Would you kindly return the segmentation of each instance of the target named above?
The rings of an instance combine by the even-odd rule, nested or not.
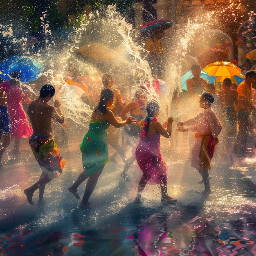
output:
[[[250,114],[252,112],[252,84],[256,82],[256,72],[249,70],[245,74],[245,81],[237,87],[238,104],[236,115],[238,122],[238,133],[234,145],[234,153],[241,158],[246,153],[246,141],[248,137]]]

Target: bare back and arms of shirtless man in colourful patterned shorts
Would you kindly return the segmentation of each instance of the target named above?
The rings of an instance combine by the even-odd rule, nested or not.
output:
[[[58,101],[55,101],[54,106],[51,106],[47,103],[47,100],[41,97],[29,103],[27,114],[33,128],[34,136],[52,135],[51,119],[63,124],[64,118],[59,106]]]

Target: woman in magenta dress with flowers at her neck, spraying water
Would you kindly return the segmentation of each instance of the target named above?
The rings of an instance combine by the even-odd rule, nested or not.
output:
[[[136,148],[136,159],[143,172],[139,182],[138,195],[135,202],[141,202],[141,193],[147,183],[160,184],[163,203],[173,203],[177,199],[171,198],[167,193],[167,166],[160,153],[160,136],[171,138],[173,117],[162,126],[157,121],[159,115],[159,104],[151,101],[147,104],[148,116],[139,121],[141,128],[139,144]]]

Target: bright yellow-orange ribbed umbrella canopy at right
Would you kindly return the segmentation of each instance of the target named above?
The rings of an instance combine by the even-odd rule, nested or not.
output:
[[[216,61],[213,62],[206,67],[204,67],[204,72],[212,76],[235,76],[241,73],[241,69],[237,67],[235,64],[228,61]]]

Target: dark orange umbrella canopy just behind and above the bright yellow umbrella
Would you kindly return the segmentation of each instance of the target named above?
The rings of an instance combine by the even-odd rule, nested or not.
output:
[[[219,50],[208,50],[202,52],[198,56],[198,63],[201,67],[205,67],[215,61],[227,61],[227,54]]]

